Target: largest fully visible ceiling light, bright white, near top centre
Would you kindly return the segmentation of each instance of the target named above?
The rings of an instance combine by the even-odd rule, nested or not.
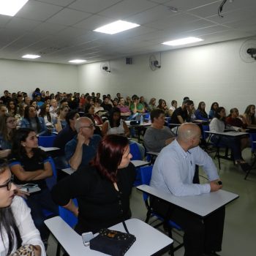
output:
[[[101,26],[100,28],[95,29],[94,31],[105,33],[105,34],[116,34],[121,31],[136,28],[137,26],[140,26],[140,25],[136,23],[130,23],[124,20],[117,20],[113,23],[109,23],[105,26]]]

